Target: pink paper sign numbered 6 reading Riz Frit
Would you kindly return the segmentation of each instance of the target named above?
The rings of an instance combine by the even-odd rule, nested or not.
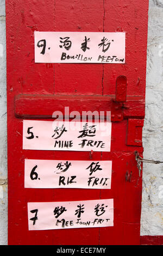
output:
[[[111,161],[25,160],[25,187],[111,187]]]

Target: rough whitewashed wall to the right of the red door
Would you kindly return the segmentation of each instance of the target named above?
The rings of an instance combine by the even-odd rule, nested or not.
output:
[[[143,147],[145,159],[163,161],[163,0],[149,0]],[[143,164],[141,235],[163,235],[162,185],[163,164]]]

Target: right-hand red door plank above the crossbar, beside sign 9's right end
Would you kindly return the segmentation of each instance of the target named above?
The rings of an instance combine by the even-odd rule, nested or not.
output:
[[[104,11],[104,32],[126,32],[126,63],[103,64],[104,95],[114,94],[116,78],[123,75],[128,95],[145,96],[148,0],[105,0]]]

